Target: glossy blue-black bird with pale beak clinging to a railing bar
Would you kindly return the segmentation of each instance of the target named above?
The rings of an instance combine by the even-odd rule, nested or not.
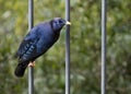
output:
[[[45,54],[59,38],[61,28],[70,22],[55,17],[49,22],[43,22],[34,26],[22,40],[16,57],[19,64],[15,68],[15,75],[24,75],[25,69],[29,62]]]

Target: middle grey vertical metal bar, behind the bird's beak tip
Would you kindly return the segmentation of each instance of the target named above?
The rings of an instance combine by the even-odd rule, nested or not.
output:
[[[66,21],[70,21],[70,0],[66,0]],[[66,94],[70,94],[70,25],[66,26]]]

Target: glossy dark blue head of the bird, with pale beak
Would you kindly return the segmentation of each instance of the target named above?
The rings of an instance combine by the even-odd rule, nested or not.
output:
[[[66,25],[66,24],[71,24],[70,22],[61,19],[61,17],[55,17],[53,20],[50,21],[51,27],[55,32],[60,32],[60,30]]]

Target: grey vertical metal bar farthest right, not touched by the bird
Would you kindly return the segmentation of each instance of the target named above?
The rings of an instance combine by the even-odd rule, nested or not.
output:
[[[106,0],[102,0],[102,94],[106,94]]]

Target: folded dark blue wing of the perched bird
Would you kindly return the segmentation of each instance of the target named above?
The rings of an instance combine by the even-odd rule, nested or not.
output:
[[[37,35],[37,30],[32,30],[26,37],[23,39],[23,42],[20,45],[20,48],[16,52],[16,56],[19,57],[20,61],[27,61],[33,59],[36,55],[36,44],[38,42],[39,37]]]

